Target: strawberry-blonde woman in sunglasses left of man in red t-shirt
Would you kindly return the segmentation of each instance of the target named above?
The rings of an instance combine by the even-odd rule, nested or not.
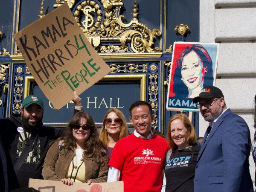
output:
[[[99,140],[107,149],[108,158],[111,157],[116,142],[126,136],[128,128],[124,114],[116,108],[111,108],[104,116],[99,134]]]

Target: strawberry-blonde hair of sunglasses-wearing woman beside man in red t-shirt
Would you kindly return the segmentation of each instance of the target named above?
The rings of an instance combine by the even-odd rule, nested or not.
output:
[[[119,139],[128,136],[128,128],[125,120],[125,116],[122,113],[122,111],[116,109],[116,108],[111,108],[110,110],[107,111],[107,113],[104,116],[103,122],[102,122],[102,128],[99,133],[99,140],[102,142],[105,148],[108,148],[108,132],[105,129],[105,119],[107,118],[108,114],[114,112],[116,115],[122,120],[122,125],[121,125],[121,131],[119,134]]]

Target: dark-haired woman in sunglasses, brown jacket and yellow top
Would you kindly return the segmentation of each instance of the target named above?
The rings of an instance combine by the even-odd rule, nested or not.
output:
[[[107,181],[108,157],[99,142],[92,116],[79,111],[70,120],[64,136],[47,152],[42,175],[47,180],[99,183]]]

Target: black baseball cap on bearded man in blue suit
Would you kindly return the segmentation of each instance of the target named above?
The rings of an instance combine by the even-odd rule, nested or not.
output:
[[[200,98],[203,99],[211,99],[211,98],[221,98],[224,97],[222,91],[218,87],[214,86],[205,86],[202,90],[199,96],[195,97],[193,99],[193,103],[199,102]]]

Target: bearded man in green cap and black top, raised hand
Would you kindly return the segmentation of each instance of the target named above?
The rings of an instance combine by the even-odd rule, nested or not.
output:
[[[75,109],[81,99],[75,94]],[[29,178],[43,179],[42,166],[49,142],[61,136],[64,129],[44,126],[44,103],[36,95],[23,100],[21,117],[0,119],[0,136],[6,154],[9,191],[28,186]],[[7,177],[4,175],[4,177]]]

